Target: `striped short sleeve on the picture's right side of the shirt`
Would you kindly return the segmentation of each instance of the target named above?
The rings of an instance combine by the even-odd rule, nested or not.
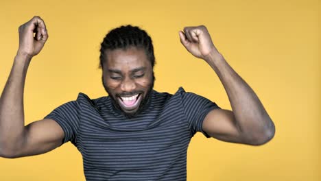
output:
[[[202,132],[206,138],[209,138],[210,136],[202,130],[202,124],[206,115],[211,110],[219,108],[219,106],[215,102],[195,93],[186,93],[183,88],[180,88],[178,92],[182,97],[182,106],[189,123],[191,136],[196,132]]]

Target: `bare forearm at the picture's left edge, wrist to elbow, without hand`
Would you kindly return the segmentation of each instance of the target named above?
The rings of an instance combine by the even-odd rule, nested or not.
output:
[[[23,89],[31,58],[17,55],[0,97],[0,151],[16,149],[23,143]]]

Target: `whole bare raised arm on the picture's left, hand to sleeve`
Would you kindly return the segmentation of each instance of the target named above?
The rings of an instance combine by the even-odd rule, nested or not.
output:
[[[47,38],[45,22],[38,16],[19,27],[19,49],[0,97],[1,157],[43,154],[62,143],[64,132],[52,119],[43,119],[25,126],[25,77],[30,61],[43,49]]]

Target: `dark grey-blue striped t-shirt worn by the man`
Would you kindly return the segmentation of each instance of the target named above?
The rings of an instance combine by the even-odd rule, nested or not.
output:
[[[86,180],[186,180],[187,147],[196,132],[209,137],[202,121],[214,108],[183,88],[174,95],[152,90],[145,109],[128,119],[110,97],[80,93],[45,118],[82,154]]]

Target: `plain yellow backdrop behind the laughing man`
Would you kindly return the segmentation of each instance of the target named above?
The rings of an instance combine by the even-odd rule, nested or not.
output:
[[[106,95],[99,44],[110,28],[129,23],[154,40],[156,90],[175,93],[183,86],[230,109],[215,72],[179,42],[180,29],[203,24],[263,102],[276,134],[260,147],[197,134],[187,180],[321,180],[318,1],[1,1],[1,90],[18,48],[18,27],[34,15],[47,23],[49,40],[27,73],[26,124],[79,92]],[[67,143],[40,156],[0,158],[0,180],[84,180],[82,157]]]

